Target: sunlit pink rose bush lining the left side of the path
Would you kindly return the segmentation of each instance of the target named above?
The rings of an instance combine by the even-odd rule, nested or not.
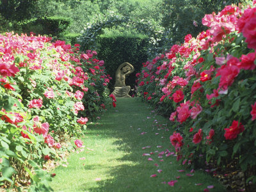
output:
[[[29,174],[33,188],[50,190],[44,161],[59,157],[61,143],[81,136],[88,118],[112,102],[96,55],[33,33],[0,35],[1,186]]]

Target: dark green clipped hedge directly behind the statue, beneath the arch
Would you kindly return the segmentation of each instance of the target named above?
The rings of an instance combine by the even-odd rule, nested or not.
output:
[[[97,38],[99,48],[98,58],[104,60],[106,72],[113,79],[109,83],[111,92],[115,84],[115,72],[118,66],[124,62],[131,63],[134,72],[125,80],[125,84],[134,89],[136,73],[140,72],[142,63],[147,61],[147,37],[132,36],[104,36]],[[132,91],[130,95],[132,95]]]

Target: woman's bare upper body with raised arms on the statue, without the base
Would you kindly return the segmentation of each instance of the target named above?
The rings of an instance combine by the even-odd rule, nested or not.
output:
[[[130,63],[122,63],[116,70],[116,83],[115,87],[122,87],[125,85],[125,77],[134,72],[134,67]]]

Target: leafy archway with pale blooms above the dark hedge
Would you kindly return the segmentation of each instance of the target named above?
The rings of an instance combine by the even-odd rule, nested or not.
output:
[[[148,42],[152,45],[148,47],[148,56],[156,54],[162,48],[161,42],[166,37],[164,28],[157,25],[154,21],[138,21],[120,15],[109,15],[106,19],[97,20],[84,26],[84,30],[81,31],[82,35],[78,38],[81,49],[95,49],[97,47],[97,37],[104,33],[103,29],[113,28],[114,26],[129,27],[138,31],[138,33],[147,35]]]

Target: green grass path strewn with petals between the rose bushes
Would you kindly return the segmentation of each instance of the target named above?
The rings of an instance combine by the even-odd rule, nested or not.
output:
[[[191,192],[214,186],[209,191],[225,191],[217,180],[200,170],[177,171],[184,167],[175,156],[165,154],[166,149],[173,152],[169,140],[173,130],[168,124],[167,119],[136,98],[118,98],[116,108],[109,108],[99,121],[88,124],[84,151],[72,154],[67,168],[60,166],[54,170],[52,188],[54,191]],[[150,177],[154,174],[157,176]],[[174,186],[168,184],[171,180],[177,180]]]

